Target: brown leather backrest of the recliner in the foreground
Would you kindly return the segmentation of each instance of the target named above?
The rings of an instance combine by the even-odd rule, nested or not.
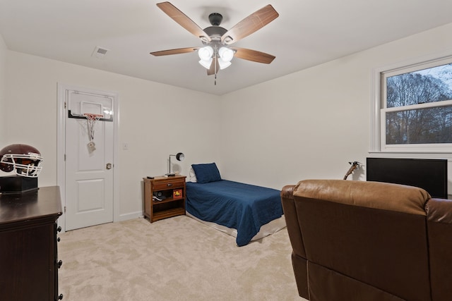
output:
[[[431,300],[425,190],[304,180],[293,195],[311,300],[328,300],[328,294],[335,297],[329,300],[345,300],[340,296],[353,293],[347,290],[374,288],[405,300]]]

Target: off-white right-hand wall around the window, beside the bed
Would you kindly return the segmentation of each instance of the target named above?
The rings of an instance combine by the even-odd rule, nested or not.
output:
[[[372,69],[452,54],[451,30],[438,27],[223,96],[222,176],[276,189],[343,178],[348,161],[369,156]]]

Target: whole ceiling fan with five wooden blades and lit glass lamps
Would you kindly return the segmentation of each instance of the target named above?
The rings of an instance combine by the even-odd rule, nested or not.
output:
[[[230,47],[230,44],[243,39],[261,29],[271,21],[278,18],[279,14],[275,8],[268,4],[258,11],[251,13],[248,17],[237,23],[230,30],[220,27],[222,16],[220,13],[211,13],[209,21],[212,26],[201,29],[193,20],[187,17],[176,6],[169,2],[158,3],[157,6],[166,13],[169,18],[179,23],[186,30],[195,35],[204,47],[187,47],[151,52],[153,56],[167,56],[171,54],[186,54],[198,51],[199,63],[207,68],[207,74],[218,73],[218,68],[224,69],[231,65],[231,60],[235,56],[239,59],[254,61],[257,63],[271,63],[275,56],[261,51]]]

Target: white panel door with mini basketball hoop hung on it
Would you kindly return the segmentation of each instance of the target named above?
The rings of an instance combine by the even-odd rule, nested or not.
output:
[[[71,90],[66,91],[66,99],[66,231],[69,231],[113,221],[114,125],[102,120],[95,123],[93,150],[88,147],[88,122],[80,117],[83,110],[100,113],[108,104],[107,114],[111,114],[113,99]],[[79,118],[69,117],[67,110],[74,111],[74,107]]]

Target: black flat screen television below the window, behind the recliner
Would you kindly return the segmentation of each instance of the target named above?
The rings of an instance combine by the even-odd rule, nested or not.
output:
[[[447,199],[447,159],[367,158],[368,181],[416,186]]]

